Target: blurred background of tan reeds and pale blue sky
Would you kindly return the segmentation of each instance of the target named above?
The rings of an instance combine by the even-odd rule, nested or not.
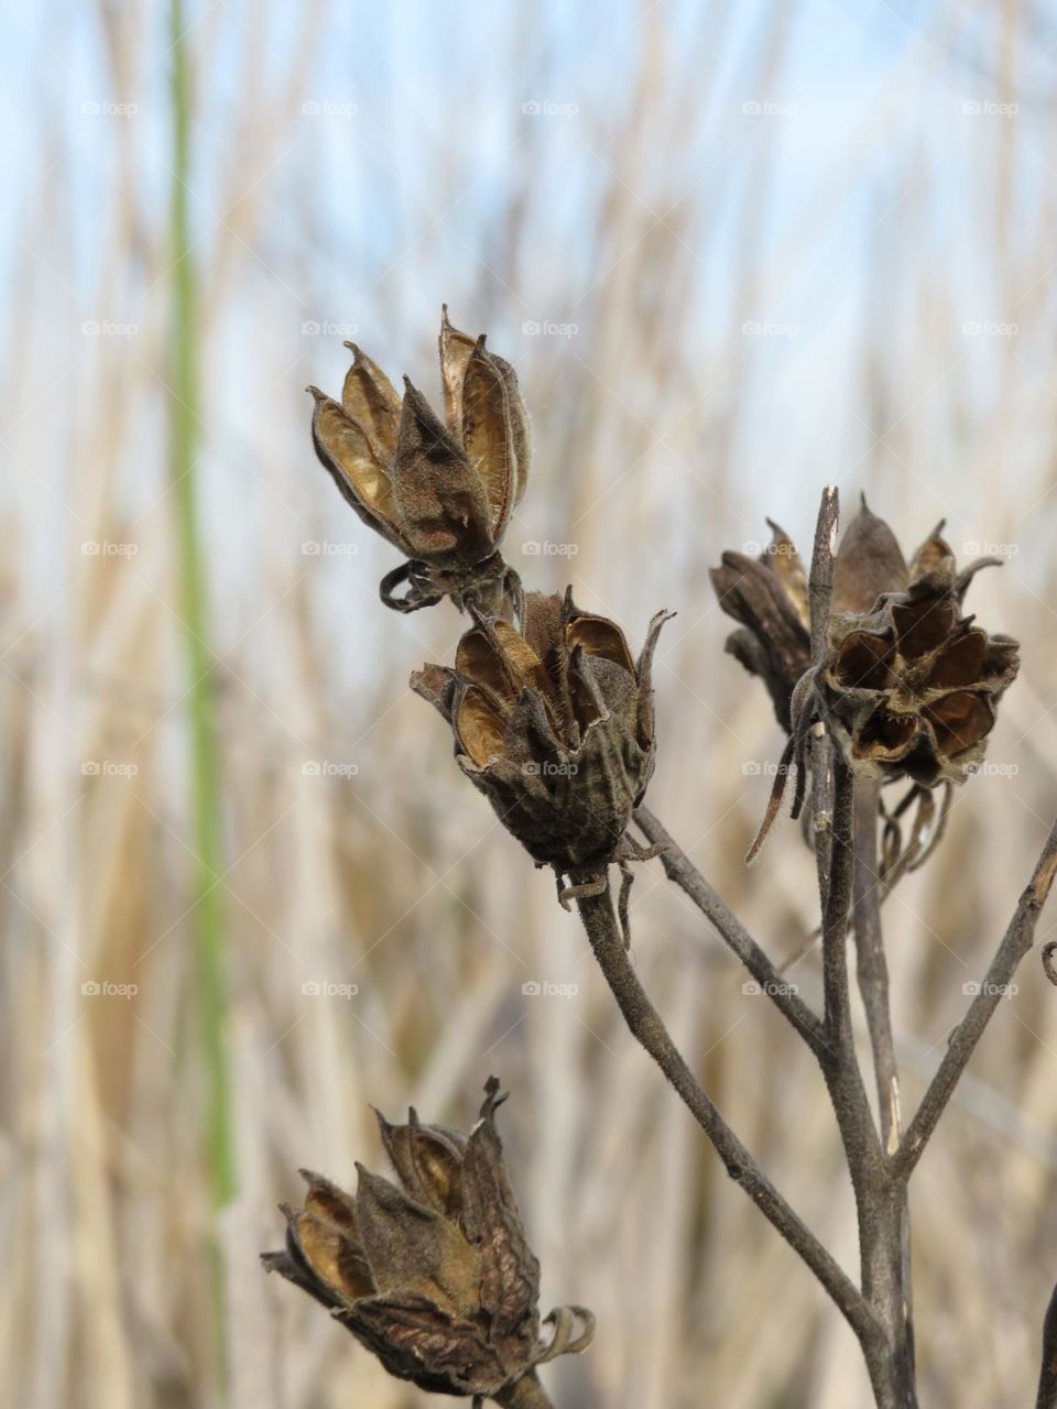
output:
[[[905,1110],[1057,799],[1057,8],[1002,0],[97,0],[0,13],[0,1363],[28,1409],[413,1409],[266,1279],[368,1102],[496,1072],[562,1409],[857,1409],[858,1348],[622,1027],[576,920],[407,689],[443,606],[309,442],[355,338],[438,392],[440,306],[534,417],[507,558],[660,648],[650,803],[777,957],[815,926],[782,745],[707,569],[860,490],[1005,559],[989,769],[885,907]],[[638,972],[855,1267],[815,1068],[657,862]],[[1044,917],[1040,937],[1057,931]],[[791,975],[819,998],[815,955]],[[564,993],[534,995],[523,985]],[[569,992],[572,991],[572,992]],[[1032,955],[913,1185],[922,1403],[1023,1405],[1057,1277],[1057,995]],[[227,1364],[221,1388],[218,1367]]]

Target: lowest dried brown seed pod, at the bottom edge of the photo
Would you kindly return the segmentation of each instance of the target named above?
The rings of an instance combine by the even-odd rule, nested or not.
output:
[[[534,1367],[585,1350],[595,1320],[562,1306],[540,1336],[540,1264],[495,1123],[505,1099],[489,1078],[469,1134],[420,1124],[414,1110],[403,1126],[379,1115],[399,1184],[357,1165],[350,1195],[303,1169],[303,1208],[283,1206],[286,1247],[262,1261],[330,1308],[390,1375],[520,1406],[537,1398]]]

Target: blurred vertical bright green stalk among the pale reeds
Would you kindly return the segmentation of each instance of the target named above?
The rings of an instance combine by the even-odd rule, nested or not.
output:
[[[204,1150],[214,1209],[235,1192],[231,1134],[231,1084],[224,1029],[227,982],[224,972],[224,909],[221,790],[217,735],[213,716],[213,658],[206,644],[206,581],[199,533],[194,454],[197,426],[197,286],[190,255],[187,180],[190,172],[190,70],[185,42],[183,0],[171,0],[171,103],[172,103],[172,368],[171,368],[171,473],[176,509],[180,573],[180,619],[190,688],[190,840],[196,855],[193,874],[194,975],[197,1033],[206,1068]],[[224,1379],[224,1288],[220,1248],[214,1239],[214,1324],[221,1384]]]

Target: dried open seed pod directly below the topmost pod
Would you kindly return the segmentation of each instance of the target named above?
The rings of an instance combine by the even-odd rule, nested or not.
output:
[[[654,769],[651,664],[668,616],[653,619],[636,662],[620,627],[581,612],[571,589],[530,592],[523,633],[478,616],[455,669],[412,676],[451,724],[462,772],[574,893],[643,855],[626,828]]]

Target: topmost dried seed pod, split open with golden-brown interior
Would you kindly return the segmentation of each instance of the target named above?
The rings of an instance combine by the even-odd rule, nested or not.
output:
[[[386,606],[416,612],[450,596],[513,619],[517,573],[499,545],[528,479],[528,413],[514,369],[448,323],[440,333],[444,420],[404,378],[403,400],[352,344],[341,402],[316,399],[316,454],[364,523],[407,562],[382,579]],[[404,596],[395,589],[406,583]]]

